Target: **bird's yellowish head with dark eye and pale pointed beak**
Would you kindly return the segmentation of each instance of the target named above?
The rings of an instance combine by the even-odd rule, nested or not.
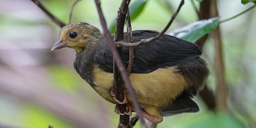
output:
[[[60,40],[52,46],[52,50],[68,47],[79,53],[100,37],[102,34],[98,28],[85,22],[77,22],[66,25],[60,30]]]

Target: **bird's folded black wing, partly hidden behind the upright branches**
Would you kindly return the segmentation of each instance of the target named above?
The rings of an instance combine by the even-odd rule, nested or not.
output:
[[[133,31],[133,42],[151,38],[159,34],[156,31]],[[128,42],[127,33],[124,41]],[[103,41],[101,50],[94,55],[94,60],[99,67],[107,72],[113,72],[113,55],[106,41]],[[180,38],[163,35],[162,38],[134,48],[134,63],[131,73],[149,73],[158,68],[172,67],[196,58],[202,54],[202,49],[193,43]],[[128,65],[129,49],[123,47],[123,63]]]

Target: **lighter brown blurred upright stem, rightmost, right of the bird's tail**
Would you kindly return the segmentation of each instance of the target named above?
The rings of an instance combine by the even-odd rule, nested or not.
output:
[[[211,16],[218,17],[217,2],[211,0]],[[216,73],[216,105],[219,110],[227,110],[227,85],[224,76],[224,64],[222,54],[222,42],[220,36],[220,26],[213,30],[213,41],[214,41],[214,67]]]

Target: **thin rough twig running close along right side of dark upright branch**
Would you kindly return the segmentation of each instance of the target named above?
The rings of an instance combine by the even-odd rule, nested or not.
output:
[[[129,8],[128,8],[127,15],[126,15],[126,26],[127,26],[126,28],[127,28],[127,34],[128,34],[128,42],[133,43],[132,25],[131,25],[131,18],[130,18]],[[129,47],[129,63],[128,63],[128,66],[127,66],[128,75],[132,71],[133,61],[134,61],[134,48]]]

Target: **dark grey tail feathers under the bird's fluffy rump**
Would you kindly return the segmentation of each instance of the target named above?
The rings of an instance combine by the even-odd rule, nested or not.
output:
[[[193,98],[191,93],[183,92],[171,106],[164,108],[162,115],[173,116],[181,113],[198,112],[199,107],[191,98]]]

